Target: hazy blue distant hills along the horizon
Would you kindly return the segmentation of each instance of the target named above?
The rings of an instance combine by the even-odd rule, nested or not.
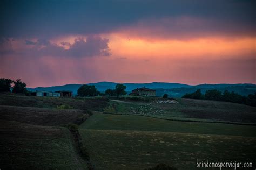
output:
[[[114,82],[98,82],[98,83],[88,83],[88,85],[94,85],[97,90],[104,92],[106,89],[114,89],[116,87]],[[180,83],[163,83],[163,82],[152,82],[152,83],[123,83],[126,86],[126,91],[130,92],[133,89],[146,87],[157,90],[157,96],[162,96],[164,93],[169,94],[173,97],[181,97],[185,93],[196,89],[202,89],[204,92],[207,89],[219,89],[224,91],[225,89],[230,91],[235,91],[241,95],[248,95],[256,92],[255,84],[199,84],[196,86],[191,86],[187,84]],[[52,86],[52,87],[37,87],[37,88],[27,88],[29,91],[58,91],[58,90],[71,90],[74,95],[77,95],[77,89],[83,84],[66,84],[63,86]]]

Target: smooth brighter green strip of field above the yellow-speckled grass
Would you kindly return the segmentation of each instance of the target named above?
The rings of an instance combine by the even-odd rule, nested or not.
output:
[[[256,126],[168,121],[135,115],[93,114],[81,129],[161,131],[256,137]]]

